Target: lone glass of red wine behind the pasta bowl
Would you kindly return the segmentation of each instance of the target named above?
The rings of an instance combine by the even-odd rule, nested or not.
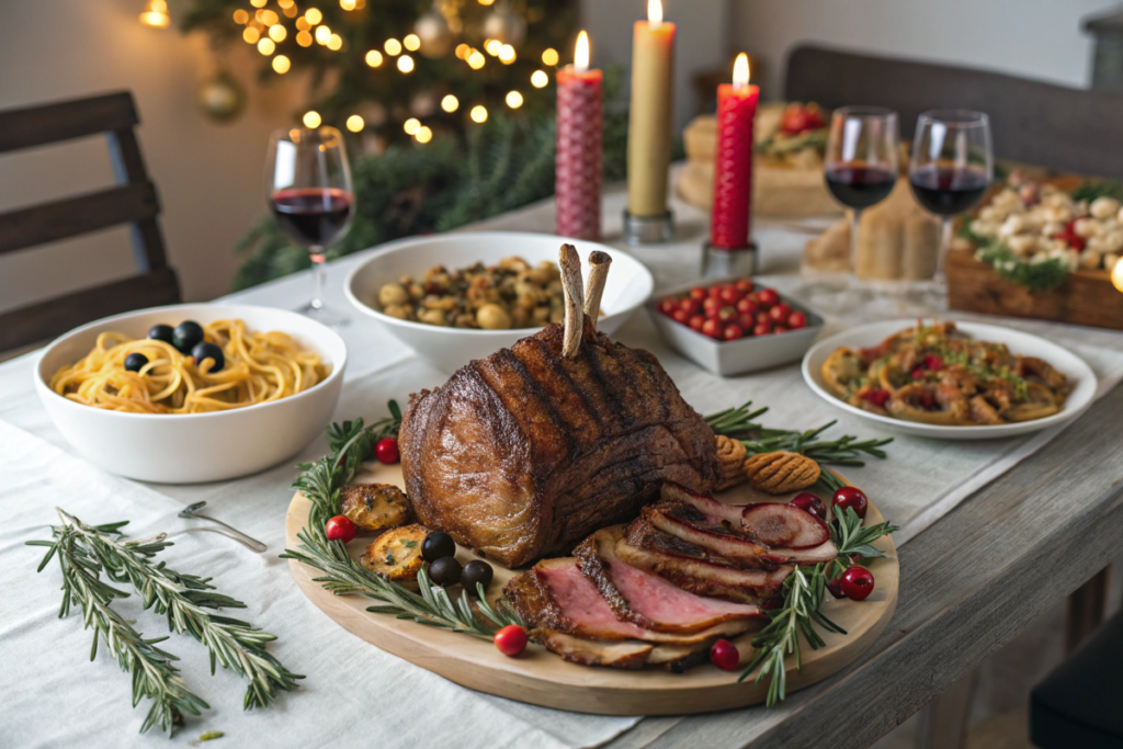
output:
[[[300,311],[332,327],[346,325],[347,318],[323,304],[325,253],[350,223],[355,204],[343,135],[334,127],[275,131],[265,185],[277,223],[312,259],[312,300]]]

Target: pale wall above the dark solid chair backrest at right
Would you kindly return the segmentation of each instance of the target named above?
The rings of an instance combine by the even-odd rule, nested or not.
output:
[[[732,0],[736,40],[768,61],[779,97],[784,60],[798,42],[984,67],[1085,86],[1092,39],[1085,16],[1110,0]]]

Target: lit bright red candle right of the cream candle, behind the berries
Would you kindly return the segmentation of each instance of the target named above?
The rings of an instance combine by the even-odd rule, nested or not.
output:
[[[752,202],[752,118],[759,86],[749,85],[749,58],[733,65],[733,83],[718,86],[718,153],[714,164],[710,244],[721,249],[749,245]]]

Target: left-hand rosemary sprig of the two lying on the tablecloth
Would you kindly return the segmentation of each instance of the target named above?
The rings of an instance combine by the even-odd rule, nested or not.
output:
[[[101,533],[115,533],[124,524],[108,523],[90,528]],[[109,652],[116,656],[121,670],[133,677],[133,706],[136,707],[143,698],[153,701],[140,732],[159,725],[171,737],[175,725],[182,722],[184,713],[199,715],[210,705],[189,689],[180,677],[179,669],[173,665],[177,658],[155,647],[157,642],[166,640],[166,637],[145,639],[133,624],[113,611],[113,599],[127,599],[129,594],[101,581],[102,565],[80,545],[74,526],[53,528],[53,536],[51,541],[36,540],[27,544],[48,547],[36,572],[43,572],[51,558],[57,556],[63,574],[63,603],[58,618],[70,614],[71,604],[75,601],[82,606],[83,629],[93,628],[90,660],[98,655],[99,640],[103,641]]]

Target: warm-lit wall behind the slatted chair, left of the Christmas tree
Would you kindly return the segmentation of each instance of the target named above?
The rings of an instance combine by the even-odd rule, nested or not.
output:
[[[293,95],[295,82],[253,85],[257,54],[238,45],[229,62],[249,103],[232,125],[211,124],[194,103],[197,84],[214,64],[206,39],[141,26],[143,6],[143,0],[0,0],[0,109],[131,90],[171,263],[186,299],[210,299],[229,290],[234,243],[265,211],[268,134],[290,121],[300,97]],[[173,0],[173,18],[179,7]],[[111,181],[100,138],[0,157],[0,210]],[[121,229],[0,256],[0,309],[129,275],[130,253]]]

